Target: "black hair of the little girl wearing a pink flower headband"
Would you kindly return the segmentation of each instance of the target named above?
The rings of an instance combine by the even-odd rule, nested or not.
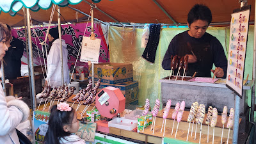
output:
[[[60,138],[69,136],[70,132],[65,132],[64,125],[70,125],[76,111],[60,111],[57,105],[52,106],[49,118],[49,127],[44,138],[44,144],[60,144]]]

